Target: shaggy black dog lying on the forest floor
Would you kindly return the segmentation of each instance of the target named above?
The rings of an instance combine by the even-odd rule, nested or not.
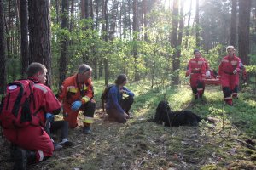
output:
[[[198,126],[199,122],[204,118],[195,115],[192,111],[171,111],[167,101],[160,101],[156,108],[154,122],[168,127],[178,126]]]

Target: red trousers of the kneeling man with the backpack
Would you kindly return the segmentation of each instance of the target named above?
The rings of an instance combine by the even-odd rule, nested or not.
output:
[[[43,127],[28,126],[17,130],[3,129],[3,135],[20,148],[35,151],[37,162],[43,161],[44,157],[50,157],[53,154],[53,143]]]

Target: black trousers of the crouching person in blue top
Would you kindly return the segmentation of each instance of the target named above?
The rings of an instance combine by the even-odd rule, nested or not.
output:
[[[120,101],[120,106],[123,108],[123,110],[127,115],[129,115],[129,111],[131,109],[131,105],[133,104],[133,101],[134,101],[133,97],[131,96],[125,99],[122,99]],[[125,123],[127,121],[124,113],[121,113],[119,110],[115,108],[107,110],[107,114],[109,116],[109,120],[111,121],[120,122],[120,123]]]

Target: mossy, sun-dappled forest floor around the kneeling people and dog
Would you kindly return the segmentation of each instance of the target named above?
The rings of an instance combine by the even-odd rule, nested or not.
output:
[[[134,117],[125,124],[106,121],[106,114],[98,106],[93,134],[83,134],[82,124],[79,124],[69,132],[69,140],[74,143],[72,147],[55,151],[53,157],[28,169],[256,169],[255,145],[247,144],[248,139],[255,141],[255,135],[240,129],[248,122],[234,123],[220,115],[215,116],[218,122],[214,124],[201,122],[199,127],[164,127],[147,121],[154,115],[155,100],[152,101],[154,105],[148,103],[145,106],[150,111],[145,110],[141,105],[143,101],[138,100],[134,105],[136,110],[133,109]],[[208,107],[211,112],[216,108],[211,109],[209,102],[209,99],[206,104],[185,102],[181,108],[196,111]],[[228,111],[234,110],[228,108]],[[145,116],[142,112],[150,114]],[[200,111],[199,115],[206,116]],[[79,116],[79,122],[82,118]],[[12,169],[9,144],[3,138],[0,148],[0,169]]]

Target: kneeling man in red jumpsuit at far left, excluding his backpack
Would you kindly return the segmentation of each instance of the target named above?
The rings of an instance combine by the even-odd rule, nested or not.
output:
[[[32,113],[38,111],[37,118],[39,117],[39,121],[43,124],[47,112],[56,115],[61,111],[61,103],[55,98],[51,89],[44,85],[46,72],[47,69],[40,63],[32,63],[26,71],[28,79],[34,82],[32,89],[35,107],[31,104],[30,110]],[[28,125],[17,129],[3,128],[3,135],[17,146],[13,153],[15,170],[24,170],[27,163],[44,161],[53,155],[53,142],[39,122],[38,126]]]

